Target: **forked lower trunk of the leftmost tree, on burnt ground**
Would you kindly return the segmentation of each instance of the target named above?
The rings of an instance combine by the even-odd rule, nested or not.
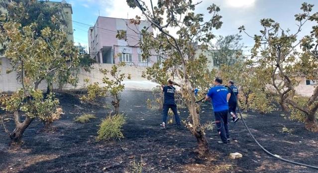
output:
[[[25,117],[25,120],[21,123],[20,122],[20,115],[18,111],[14,112],[14,122],[15,122],[15,129],[12,133],[10,133],[10,138],[12,142],[21,143],[22,135],[24,130],[31,124],[34,118],[30,118],[28,116]]]

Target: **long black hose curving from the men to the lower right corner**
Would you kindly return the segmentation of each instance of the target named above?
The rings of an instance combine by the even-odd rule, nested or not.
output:
[[[225,85],[225,87],[229,88],[229,89],[232,91],[232,89],[231,89],[229,86],[226,86],[226,85]],[[232,93],[233,93],[233,91],[232,91]],[[237,98],[236,98],[235,94],[234,94],[234,97],[235,97],[235,100],[236,100],[236,102],[237,102]],[[202,99],[202,100],[203,100],[203,99]],[[202,101],[202,100],[201,100],[201,101]],[[318,167],[316,167],[316,166],[312,166],[312,165],[302,164],[302,163],[299,163],[299,162],[290,161],[290,160],[281,158],[280,156],[274,155],[273,153],[271,153],[271,152],[269,152],[268,150],[266,150],[266,149],[256,140],[256,138],[254,137],[254,135],[252,134],[252,132],[250,131],[250,129],[249,129],[248,126],[246,125],[245,120],[244,120],[243,117],[242,117],[241,110],[239,109],[238,104],[237,104],[237,110],[238,110],[238,113],[239,113],[239,115],[240,115],[240,117],[241,117],[241,119],[242,119],[242,121],[243,121],[243,124],[245,125],[246,129],[248,130],[248,133],[252,136],[252,138],[254,139],[254,141],[256,142],[256,144],[257,144],[259,147],[261,147],[262,150],[265,151],[265,153],[267,153],[268,155],[270,155],[270,156],[272,156],[272,157],[275,157],[275,158],[277,158],[277,159],[279,159],[279,160],[282,160],[282,161],[284,161],[284,162],[288,162],[288,163],[291,163],[291,164],[294,164],[294,165],[300,165],[300,166],[303,166],[303,167],[308,167],[308,168],[313,168],[313,169],[318,170]]]

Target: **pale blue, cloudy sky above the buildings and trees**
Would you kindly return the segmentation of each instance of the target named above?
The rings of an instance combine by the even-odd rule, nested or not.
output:
[[[144,0],[149,1],[149,0]],[[154,0],[156,1],[156,0]],[[220,7],[219,14],[222,16],[222,27],[213,30],[215,35],[238,34],[238,27],[244,25],[250,35],[259,34],[261,25],[260,19],[272,18],[281,24],[283,29],[296,31],[297,22],[295,14],[301,13],[301,4],[305,0],[194,0],[202,1],[197,7],[197,13],[204,13],[209,17],[207,7],[212,3]],[[88,46],[88,29],[94,25],[97,17],[107,16],[116,18],[133,18],[136,15],[141,16],[141,12],[136,8],[132,9],[126,3],[126,0],[67,0],[73,8],[73,29],[74,42]],[[314,4],[314,12],[318,11],[318,0],[306,0]],[[211,14],[210,14],[211,15]],[[80,23],[78,23],[80,22]],[[81,24],[83,23],[83,24]],[[307,23],[302,30],[302,35],[307,35],[311,31],[311,23]],[[214,39],[214,42],[216,39]],[[253,40],[242,34],[242,43],[246,49],[253,46]]]

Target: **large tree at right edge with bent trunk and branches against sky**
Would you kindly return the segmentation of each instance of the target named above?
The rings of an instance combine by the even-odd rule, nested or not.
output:
[[[304,106],[295,101],[295,86],[299,84],[295,77],[299,74],[313,80],[317,80],[318,77],[318,13],[312,14],[313,6],[306,2],[302,4],[303,12],[295,15],[299,24],[297,32],[294,34],[289,29],[283,30],[280,24],[273,19],[262,19],[261,34],[250,37],[255,40],[252,58],[258,60],[260,67],[269,69],[268,74],[271,75],[269,83],[279,95],[279,103],[283,110],[288,112],[288,106],[291,106],[293,109],[301,111],[306,116],[306,129],[318,132],[315,117],[318,110],[318,87],[315,88],[312,97]],[[313,31],[303,39],[298,39],[298,35],[308,20],[316,23]],[[246,33],[244,26],[241,26],[239,30]],[[302,48],[302,51],[297,48]],[[278,82],[279,79],[281,82]]]

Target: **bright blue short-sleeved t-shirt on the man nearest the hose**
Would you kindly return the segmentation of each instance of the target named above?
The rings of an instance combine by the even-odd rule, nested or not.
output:
[[[212,99],[214,112],[228,110],[228,104],[226,101],[227,94],[228,90],[224,85],[216,85],[209,90],[207,95]]]

